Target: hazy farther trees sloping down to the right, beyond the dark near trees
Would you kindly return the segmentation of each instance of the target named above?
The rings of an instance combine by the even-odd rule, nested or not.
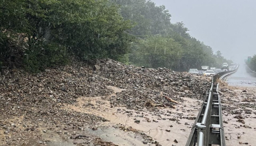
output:
[[[164,6],[148,0],[112,0],[120,4],[121,14],[136,24],[130,34],[140,38],[132,45],[130,63],[146,67],[168,67],[178,71],[200,69],[202,65],[221,68],[231,63],[215,54],[210,46],[191,37],[182,22],[172,24]]]

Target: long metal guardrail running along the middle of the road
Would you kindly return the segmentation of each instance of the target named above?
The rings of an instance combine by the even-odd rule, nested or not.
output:
[[[226,146],[220,95],[216,81],[236,72],[237,69],[238,67],[233,71],[224,71],[212,76],[211,86],[206,92],[204,103],[196,117],[186,146]]]

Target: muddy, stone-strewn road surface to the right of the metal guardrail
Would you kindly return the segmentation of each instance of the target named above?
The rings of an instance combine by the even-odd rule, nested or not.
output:
[[[255,91],[254,87],[220,88],[226,146],[256,144]]]

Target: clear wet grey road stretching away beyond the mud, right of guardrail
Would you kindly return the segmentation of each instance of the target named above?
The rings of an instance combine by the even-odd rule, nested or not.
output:
[[[226,77],[230,86],[256,87],[256,77],[246,71],[246,65],[240,65],[236,73]]]

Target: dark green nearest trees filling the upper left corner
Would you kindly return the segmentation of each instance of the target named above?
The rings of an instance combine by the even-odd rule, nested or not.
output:
[[[70,55],[118,59],[133,38],[132,24],[108,0],[3,0],[0,22],[0,61],[22,59],[32,72]]]

